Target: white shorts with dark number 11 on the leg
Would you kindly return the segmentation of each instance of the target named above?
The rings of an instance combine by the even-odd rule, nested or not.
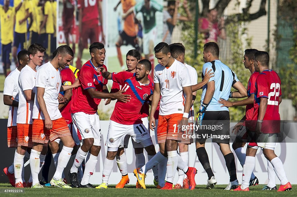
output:
[[[111,148],[123,147],[126,135],[131,136],[136,143],[151,138],[143,124],[124,125],[111,120],[105,145]]]

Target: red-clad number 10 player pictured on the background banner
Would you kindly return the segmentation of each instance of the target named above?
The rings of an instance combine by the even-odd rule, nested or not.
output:
[[[91,43],[99,42],[99,23],[102,26],[102,0],[78,0],[78,55],[76,68],[81,68],[81,57],[83,49],[88,48],[88,39]],[[102,33],[102,42],[105,42],[104,33]]]

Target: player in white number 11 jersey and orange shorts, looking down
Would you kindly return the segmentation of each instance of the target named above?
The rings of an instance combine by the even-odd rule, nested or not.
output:
[[[167,43],[161,42],[157,44],[154,50],[159,64],[154,70],[155,88],[149,126],[153,130],[152,124],[155,125],[154,113],[160,96],[162,96],[157,130],[160,152],[149,163],[135,169],[133,173],[136,175],[139,184],[144,188],[146,172],[164,160],[165,156],[168,156],[167,182],[162,189],[172,189],[174,174],[176,168],[178,168],[187,174],[190,183],[189,188],[193,190],[196,186],[195,174],[197,170],[193,167],[188,167],[177,153],[178,135],[181,134],[178,125],[180,124],[180,128],[188,125],[189,110],[191,108],[192,86],[189,71],[184,64],[173,59]],[[186,98],[184,98],[183,92],[186,94]],[[167,150],[167,153],[165,150]]]

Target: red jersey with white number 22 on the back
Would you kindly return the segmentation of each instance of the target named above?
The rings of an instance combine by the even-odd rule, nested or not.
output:
[[[258,119],[260,98],[268,99],[261,127],[263,133],[279,133],[280,131],[279,97],[282,95],[280,85],[280,78],[273,70],[264,70],[256,79],[253,122],[256,123]]]

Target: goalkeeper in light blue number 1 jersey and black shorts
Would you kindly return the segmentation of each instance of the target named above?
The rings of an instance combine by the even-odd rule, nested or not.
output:
[[[237,79],[236,74],[225,64],[219,60],[219,47],[217,43],[209,42],[204,45],[203,48],[203,60],[205,64],[202,68],[202,73],[206,73],[206,68],[212,69],[214,71],[214,77],[212,77],[208,84],[203,86],[203,92],[201,96],[201,105],[197,114],[198,121],[196,125],[202,125],[203,128],[214,126],[217,129],[212,131],[211,129],[197,129],[195,135],[199,134],[200,138],[196,138],[196,153],[200,163],[205,169],[208,180],[207,189],[211,189],[217,183],[214,174],[211,170],[208,155],[205,149],[205,141],[211,134],[215,135],[226,135],[225,138],[213,138],[212,141],[216,142],[225,158],[226,167],[230,175],[230,182],[225,190],[230,190],[238,185],[238,180],[236,177],[236,166],[235,158],[230,150],[229,138],[230,135],[230,116],[227,107],[222,107],[218,100],[223,98],[227,100],[229,98],[231,87],[234,87],[239,91],[244,97],[247,96],[247,89],[241,84]],[[202,76],[203,77],[203,76]],[[202,121],[203,120],[203,121]]]

